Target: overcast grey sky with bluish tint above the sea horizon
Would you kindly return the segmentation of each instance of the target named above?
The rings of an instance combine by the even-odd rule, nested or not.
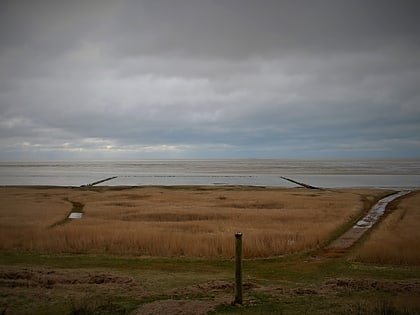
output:
[[[0,160],[420,157],[417,0],[2,0]]]

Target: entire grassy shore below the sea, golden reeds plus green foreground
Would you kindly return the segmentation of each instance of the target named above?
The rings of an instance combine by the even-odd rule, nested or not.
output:
[[[0,187],[0,314],[420,314],[420,191],[355,247],[325,247],[389,193]]]

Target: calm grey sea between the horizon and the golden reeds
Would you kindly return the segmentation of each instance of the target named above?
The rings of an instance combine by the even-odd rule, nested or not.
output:
[[[260,185],[420,188],[420,159],[169,159],[0,162],[0,185]]]

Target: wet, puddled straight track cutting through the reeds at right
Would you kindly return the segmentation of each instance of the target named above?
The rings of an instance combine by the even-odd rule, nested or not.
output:
[[[347,252],[363,236],[363,234],[365,234],[377,223],[377,221],[385,213],[386,207],[391,201],[405,196],[410,192],[411,191],[400,191],[379,200],[361,220],[357,221],[350,230],[333,241],[325,248],[325,250],[327,252],[335,253]]]

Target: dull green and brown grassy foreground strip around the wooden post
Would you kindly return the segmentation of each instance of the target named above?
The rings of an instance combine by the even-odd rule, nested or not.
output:
[[[245,260],[243,306],[230,304],[234,262],[227,259],[3,251],[0,264],[5,314],[171,314],[180,308],[183,314],[420,312],[419,267],[322,254]]]

